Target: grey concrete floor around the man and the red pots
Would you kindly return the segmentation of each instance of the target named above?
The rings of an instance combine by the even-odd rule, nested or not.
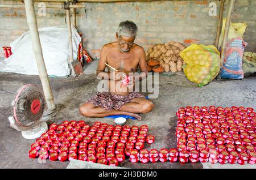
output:
[[[183,73],[159,76],[159,97],[152,100],[155,104],[153,112],[143,114],[143,121],[129,119],[128,125],[149,126],[148,134],[155,135],[156,142],[146,145],[150,148],[176,147],[175,112],[182,106],[245,106],[256,109],[256,78],[250,76],[243,80],[214,80],[203,88],[189,82]],[[11,101],[16,90],[24,84],[34,83],[41,87],[38,76],[12,73],[0,73],[0,168],[67,168],[69,162],[40,163],[37,159],[28,158],[30,144],[34,140],[25,140],[20,132],[9,126]],[[51,87],[59,112],[48,117],[47,123],[60,123],[65,119],[85,119],[92,125],[95,121],[113,124],[113,119],[84,118],[78,107],[96,93],[96,75],[82,75],[77,78],[51,78]],[[203,168],[202,164],[185,164],[170,162],[156,164],[132,164],[125,161],[121,166],[126,168]]]

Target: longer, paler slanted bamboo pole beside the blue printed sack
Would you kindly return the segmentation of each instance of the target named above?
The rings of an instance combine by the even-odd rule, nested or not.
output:
[[[217,80],[221,80],[221,70],[223,68],[223,63],[224,63],[224,58],[225,58],[225,51],[226,51],[226,44],[228,42],[228,36],[229,36],[229,26],[230,26],[230,22],[231,22],[231,15],[232,15],[232,10],[233,10],[235,2],[236,2],[236,0],[230,0],[228,15],[226,17],[224,38],[223,38],[222,47],[221,47],[220,73],[217,76]]]

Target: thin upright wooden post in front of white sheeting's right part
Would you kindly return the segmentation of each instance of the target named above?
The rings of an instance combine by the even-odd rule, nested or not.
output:
[[[68,0],[66,1],[69,5]],[[66,4],[67,5],[67,4]],[[71,66],[71,71],[73,76],[75,77],[75,71],[73,70],[73,66],[72,66],[72,61],[73,61],[73,43],[72,43],[72,28],[71,28],[71,18],[70,18],[70,8],[67,6],[65,6],[64,4],[64,8],[65,8],[65,14],[67,17],[67,25],[68,25],[68,46],[69,46],[69,64]]]

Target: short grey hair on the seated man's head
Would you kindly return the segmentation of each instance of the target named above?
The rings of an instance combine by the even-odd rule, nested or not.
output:
[[[121,22],[117,29],[118,37],[137,36],[137,31],[138,31],[137,25],[134,22],[131,22],[129,20],[126,20],[125,22]]]

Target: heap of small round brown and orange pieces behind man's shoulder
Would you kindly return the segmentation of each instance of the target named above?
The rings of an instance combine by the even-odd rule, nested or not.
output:
[[[146,52],[148,72],[177,72],[182,71],[183,59],[179,53],[185,49],[180,42],[170,41],[156,44]]]

